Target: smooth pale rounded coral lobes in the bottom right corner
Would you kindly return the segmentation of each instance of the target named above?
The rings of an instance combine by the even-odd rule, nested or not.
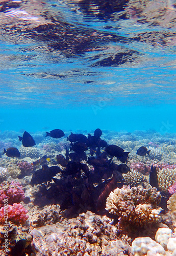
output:
[[[136,238],[132,243],[134,256],[174,256],[176,238],[169,228],[159,228],[154,241],[149,237]]]

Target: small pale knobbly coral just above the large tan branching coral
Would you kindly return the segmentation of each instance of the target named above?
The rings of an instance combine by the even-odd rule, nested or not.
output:
[[[144,181],[144,175],[136,170],[131,169],[131,172],[123,174],[124,184],[130,185],[131,187],[136,186]]]

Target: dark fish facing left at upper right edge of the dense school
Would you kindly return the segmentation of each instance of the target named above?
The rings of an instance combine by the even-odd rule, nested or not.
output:
[[[120,160],[120,162],[127,162],[128,156],[130,152],[124,152],[124,150],[116,145],[109,145],[105,147],[105,152],[112,157],[116,157]]]

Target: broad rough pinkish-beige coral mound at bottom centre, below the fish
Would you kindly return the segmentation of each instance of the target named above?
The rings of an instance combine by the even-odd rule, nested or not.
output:
[[[130,246],[117,239],[117,229],[111,220],[90,211],[69,221],[35,228],[31,235],[36,256],[131,255]]]

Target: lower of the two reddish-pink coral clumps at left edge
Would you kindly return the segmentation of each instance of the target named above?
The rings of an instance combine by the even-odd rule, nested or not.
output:
[[[13,205],[8,205],[7,209],[6,206],[0,209],[0,221],[4,221],[7,217],[8,221],[15,224],[23,224],[28,219],[27,212],[28,210],[26,210],[22,204],[14,203]]]

